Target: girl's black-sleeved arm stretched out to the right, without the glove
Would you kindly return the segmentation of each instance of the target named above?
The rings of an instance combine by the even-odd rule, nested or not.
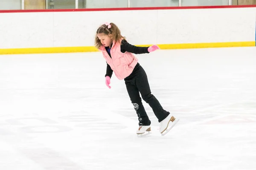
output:
[[[134,53],[134,54],[145,54],[148,52],[148,47],[137,47],[135,45],[129,44],[126,40],[122,40],[121,43],[121,52],[125,53],[125,51]]]

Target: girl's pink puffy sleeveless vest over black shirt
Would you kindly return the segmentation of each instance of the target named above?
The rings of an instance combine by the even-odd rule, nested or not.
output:
[[[137,65],[138,59],[133,53],[127,51],[125,51],[125,53],[121,52],[120,42],[113,41],[110,50],[112,58],[108,55],[105,46],[102,45],[99,50],[102,51],[103,57],[106,59],[106,62],[110,65],[119,80],[128,77],[134,70],[135,65]]]

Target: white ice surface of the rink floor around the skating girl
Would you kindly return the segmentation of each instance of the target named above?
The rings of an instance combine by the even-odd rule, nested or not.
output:
[[[255,170],[256,48],[137,55],[180,119],[138,138],[125,83],[100,52],[0,55],[0,170]]]

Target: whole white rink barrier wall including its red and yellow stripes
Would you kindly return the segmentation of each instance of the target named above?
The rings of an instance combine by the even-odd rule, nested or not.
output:
[[[256,46],[256,6],[9,10],[0,11],[5,23],[0,25],[0,54],[98,51],[93,46],[95,31],[99,23],[106,22],[99,17],[106,13],[118,14],[108,22],[116,23],[128,42],[137,46],[157,44],[161,49]],[[143,22],[137,17],[140,15],[151,20]],[[179,17],[170,17],[175,15]],[[32,20],[40,22],[31,23]]]

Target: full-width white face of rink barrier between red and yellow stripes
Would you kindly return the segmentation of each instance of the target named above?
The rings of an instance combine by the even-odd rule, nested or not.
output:
[[[136,45],[243,42],[255,41],[256,8],[0,13],[0,19],[0,48],[93,46],[105,22]]]

